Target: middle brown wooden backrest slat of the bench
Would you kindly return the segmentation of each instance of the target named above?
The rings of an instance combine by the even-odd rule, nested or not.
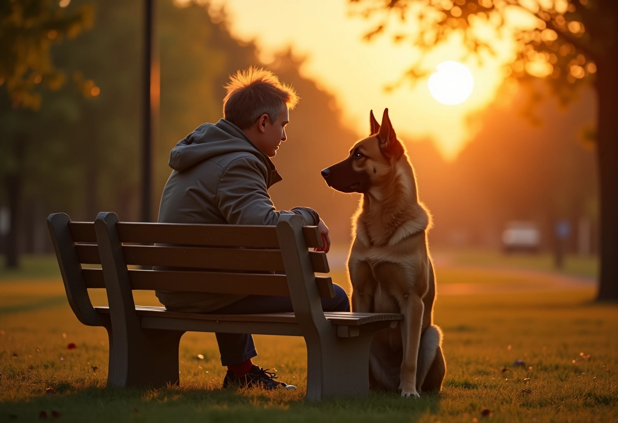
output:
[[[98,247],[78,244],[82,263],[101,264]],[[219,270],[285,271],[281,250],[210,247],[122,246],[127,265],[186,267]],[[309,253],[313,271],[328,273],[323,252]]]

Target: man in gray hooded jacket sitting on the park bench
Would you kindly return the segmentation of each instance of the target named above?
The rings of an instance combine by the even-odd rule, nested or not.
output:
[[[161,196],[159,223],[277,224],[295,213],[305,225],[317,225],[328,252],[326,224],[308,207],[276,211],[268,189],[281,181],[273,162],[286,140],[289,109],[298,102],[294,88],[272,72],[250,67],[233,75],[226,85],[223,119],[205,123],[172,148],[173,169]],[[325,312],[348,312],[350,303],[341,286],[335,297],[322,299]],[[225,295],[158,291],[166,309],[192,313],[256,314],[292,312],[290,297]],[[273,372],[251,361],[257,355],[250,334],[216,333],[221,364],[227,366],[223,387],[295,389],[277,382]]]

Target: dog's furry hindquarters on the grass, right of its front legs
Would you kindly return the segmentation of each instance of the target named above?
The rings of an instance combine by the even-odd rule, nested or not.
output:
[[[417,391],[440,391],[445,374],[442,330],[432,325],[423,331],[418,348]]]

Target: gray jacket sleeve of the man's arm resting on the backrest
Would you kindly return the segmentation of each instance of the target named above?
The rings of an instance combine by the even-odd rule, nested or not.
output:
[[[221,174],[216,202],[229,224],[277,224],[279,217],[294,213],[306,225],[316,225],[320,216],[308,207],[277,211],[266,188],[266,168],[261,161],[242,156],[232,161]]]

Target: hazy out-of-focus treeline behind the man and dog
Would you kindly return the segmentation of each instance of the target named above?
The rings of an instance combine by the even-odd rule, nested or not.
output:
[[[43,93],[40,111],[12,108],[0,87],[0,152],[5,155],[0,161],[0,234],[5,252],[49,251],[45,218],[52,212],[93,220],[100,211],[114,211],[121,220],[138,220],[142,2],[74,0],[69,7],[81,4],[93,4],[94,27],[54,47],[54,63],[66,70],[67,83]],[[334,245],[347,248],[358,196],[329,189],[320,170],[342,160],[368,125],[345,127],[341,103],[300,75],[302,61],[290,51],[261,64],[253,43],[231,37],[224,15],[211,19],[203,6],[177,7],[171,0],[158,5],[161,106],[153,215],[169,176],[169,150],[201,123],[221,117],[222,87],[229,74],[250,65],[267,66],[302,98],[290,113],[288,141],[274,159],[284,177],[271,189],[274,203],[282,209],[315,208],[331,228]],[[568,219],[575,228],[586,218],[594,227],[596,168],[593,151],[583,141],[585,124],[594,116],[593,100],[591,93],[582,92],[561,109],[551,98],[530,103],[527,90],[520,90],[512,101],[497,101],[471,119],[475,136],[449,163],[431,140],[400,133],[417,171],[421,200],[434,215],[432,245],[497,247],[509,220],[536,221],[544,246],[551,243],[557,219]],[[538,116],[540,123],[533,125],[526,114]],[[7,212],[16,203],[19,236],[14,246],[6,226]],[[570,248],[575,249],[575,237]]]

